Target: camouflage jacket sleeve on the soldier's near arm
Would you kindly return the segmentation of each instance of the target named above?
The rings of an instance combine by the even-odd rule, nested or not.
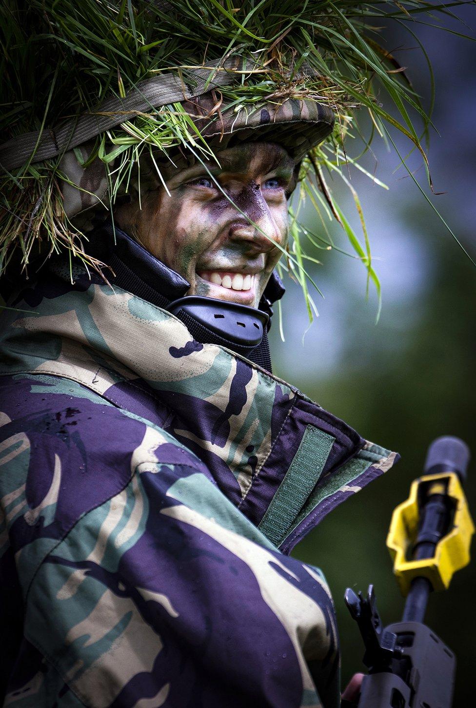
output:
[[[279,553],[163,431],[141,423],[127,451],[139,423],[127,442],[117,416],[91,433],[87,484],[71,474],[71,440],[55,452],[43,436],[42,473],[30,458],[30,501],[11,527],[17,545],[30,533],[16,554],[24,632],[54,672],[51,705],[337,708],[320,571]]]

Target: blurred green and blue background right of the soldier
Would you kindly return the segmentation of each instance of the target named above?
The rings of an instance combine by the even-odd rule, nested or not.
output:
[[[474,5],[463,6],[462,27],[473,37]],[[436,78],[436,131],[429,158],[435,191],[431,197],[476,260],[475,45],[426,25],[417,28],[429,51]],[[412,67],[415,89],[429,96],[429,74],[422,55],[398,28],[387,34],[388,49]],[[400,53],[399,53],[400,51]],[[410,147],[400,140],[403,154]],[[355,147],[357,152],[359,146]],[[272,329],[274,372],[295,384],[325,409],[343,418],[365,438],[397,450],[401,461],[388,474],[347,500],[304,539],[293,554],[320,566],[334,595],[342,644],[342,685],[364,670],[363,645],[344,606],[347,586],[376,587],[384,624],[401,618],[403,599],[392,573],[385,536],[393,508],[408,496],[422,473],[426,448],[439,435],[458,435],[472,447],[466,493],[476,516],[476,268],[431,211],[395,154],[375,144],[367,167],[385,181],[382,190],[359,173],[359,191],[371,236],[375,265],[383,286],[383,310],[375,324],[376,297],[366,302],[364,266],[339,253],[318,251],[322,265],[310,268],[325,299],[315,297],[320,317],[304,336],[308,322],[299,288],[286,278],[285,343]],[[421,159],[410,169],[424,187]],[[352,200],[342,190],[347,214]],[[312,210],[308,212],[313,222]],[[356,230],[358,217],[351,219]],[[338,228],[333,234],[346,246]],[[474,549],[474,546],[473,546]],[[474,551],[473,551],[474,554]],[[459,571],[450,590],[431,596],[426,622],[458,659],[454,706],[474,704],[476,666],[476,562]]]

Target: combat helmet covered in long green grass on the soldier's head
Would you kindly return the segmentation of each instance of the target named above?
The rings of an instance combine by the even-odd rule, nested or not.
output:
[[[380,0],[6,0],[1,268],[15,251],[24,270],[33,254],[66,249],[100,270],[88,234],[113,219],[117,200],[140,198],[147,179],[160,184],[164,165],[211,159],[241,139],[282,144],[301,166],[300,197],[343,224],[325,173],[349,161],[356,108],[421,151],[405,105],[428,124],[378,42],[385,14],[408,22],[428,5],[390,9]],[[382,89],[405,127],[384,110]],[[316,236],[296,210],[291,235],[286,263],[307,294],[303,239]],[[370,251],[350,239],[376,279]]]

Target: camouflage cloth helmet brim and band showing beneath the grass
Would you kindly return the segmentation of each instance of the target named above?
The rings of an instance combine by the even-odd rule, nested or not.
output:
[[[236,67],[238,62],[233,62],[233,65]],[[88,232],[108,217],[110,207],[110,185],[105,162],[100,157],[89,161],[94,138],[115,127],[120,121],[123,122],[124,115],[134,115],[151,108],[158,109],[165,103],[180,103],[199,135],[215,151],[226,149],[236,142],[266,140],[280,144],[297,163],[332,132],[335,122],[332,109],[313,98],[285,96],[282,101],[275,99],[248,107],[238,104],[228,108],[226,103],[219,102],[216,93],[232,75],[231,62],[227,62],[226,70],[230,72],[228,76],[225,74],[218,79],[215,77],[211,81],[214,88],[207,87],[207,91],[202,94],[196,93],[199,81],[203,83],[208,79],[210,72],[216,71],[216,67],[195,70],[195,85],[190,88],[183,83],[178,84],[173,74],[161,76],[158,80],[144,81],[125,100],[108,101],[98,108],[97,116],[83,116],[79,122],[63,125],[57,131],[48,130],[46,134],[31,132],[19,139],[13,138],[0,145],[1,169],[12,171],[21,168],[28,160],[36,164],[60,156],[59,173],[62,176],[65,215],[68,219],[73,219],[77,228]],[[98,120],[100,114],[105,114],[105,120]],[[172,145],[167,155],[156,155],[154,163],[167,164],[167,161],[173,160],[174,166],[178,166],[184,160],[187,160],[188,164],[195,161],[193,154],[180,154],[177,148],[177,145]],[[109,170],[114,168],[114,162],[112,159],[108,163]],[[151,166],[151,161],[146,159],[140,171],[137,166],[132,171],[131,179],[127,183],[129,193],[132,190],[139,192],[140,173],[142,188],[151,188],[151,183],[160,186],[161,182]],[[121,186],[115,198],[124,195],[125,185]],[[91,213],[93,208],[95,212]]]

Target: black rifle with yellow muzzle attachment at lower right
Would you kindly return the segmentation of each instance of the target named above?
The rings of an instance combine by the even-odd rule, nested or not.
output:
[[[373,586],[366,598],[347,588],[344,602],[364,640],[368,675],[358,703],[342,700],[342,708],[451,708],[455,656],[424,624],[424,615],[431,590],[446,590],[453,573],[470,561],[475,527],[462,486],[469,459],[463,440],[434,440],[424,476],[393,512],[387,546],[407,598],[402,622],[382,626]]]

